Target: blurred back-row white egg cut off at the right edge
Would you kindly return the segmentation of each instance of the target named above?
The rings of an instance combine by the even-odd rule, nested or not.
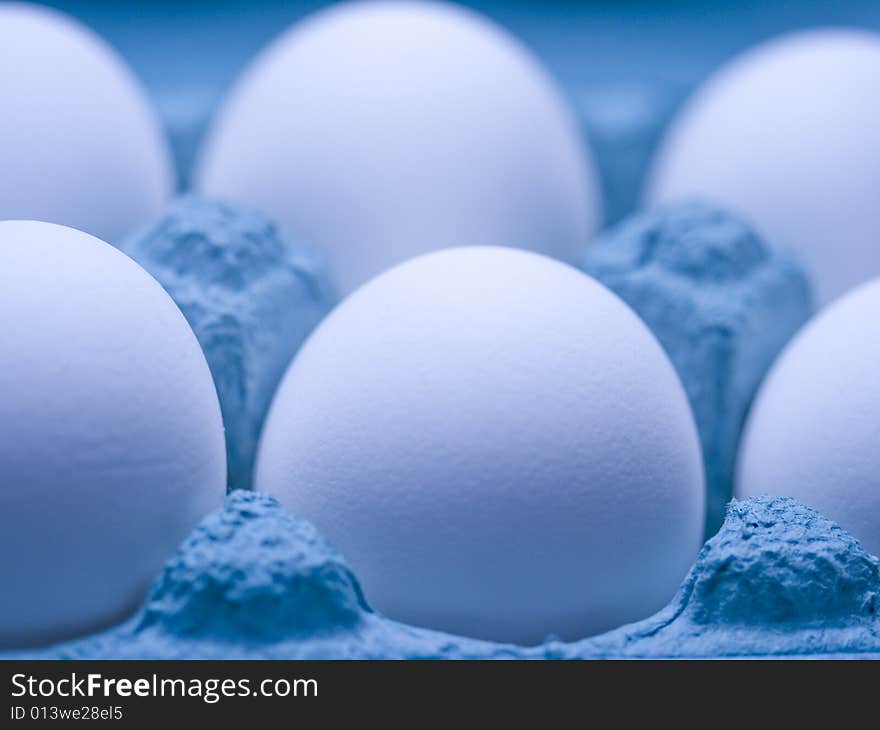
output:
[[[792,33],[734,59],[686,104],[645,202],[713,200],[798,251],[825,304],[880,274],[880,35]]]

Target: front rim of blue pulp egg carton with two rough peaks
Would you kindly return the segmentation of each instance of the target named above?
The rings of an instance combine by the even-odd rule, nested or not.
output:
[[[578,576],[572,575],[572,581]],[[236,491],[168,562],[137,614],[4,658],[880,659],[880,562],[789,498],[733,502],[677,595],[651,618],[522,647],[391,621],[307,522]]]

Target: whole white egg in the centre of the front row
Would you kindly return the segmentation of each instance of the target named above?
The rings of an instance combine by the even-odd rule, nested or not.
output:
[[[701,543],[694,420],[620,299],[532,252],[434,252],[303,345],[255,488],[391,618],[499,641],[594,634],[672,597]]]

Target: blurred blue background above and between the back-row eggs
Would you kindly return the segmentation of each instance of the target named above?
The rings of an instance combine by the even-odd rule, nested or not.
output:
[[[290,23],[327,2],[47,2],[110,41],[158,106],[185,185],[223,92]],[[596,154],[606,222],[630,211],[662,130],[725,59],[778,33],[817,25],[880,29],[880,2],[483,2],[568,92]]]

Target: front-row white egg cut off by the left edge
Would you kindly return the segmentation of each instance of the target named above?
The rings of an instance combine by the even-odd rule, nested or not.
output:
[[[0,222],[0,647],[123,618],[199,519],[226,457],[205,357],[131,259]]]

